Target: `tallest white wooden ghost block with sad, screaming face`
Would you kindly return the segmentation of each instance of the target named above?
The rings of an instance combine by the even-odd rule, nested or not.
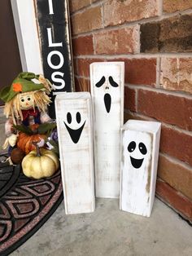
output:
[[[90,64],[94,108],[96,196],[120,196],[120,127],[124,119],[124,62]]]

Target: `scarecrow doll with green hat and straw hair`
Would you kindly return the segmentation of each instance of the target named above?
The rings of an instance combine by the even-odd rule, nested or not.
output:
[[[11,86],[3,88],[0,92],[0,99],[5,102],[4,114],[7,117],[5,125],[7,139],[3,148],[9,146],[9,154],[13,148],[19,146],[20,134],[27,131],[31,135],[38,134],[41,124],[53,124],[46,113],[47,106],[51,102],[48,96],[51,89],[50,82],[45,77],[24,72],[15,78]],[[44,125],[40,134],[46,133],[49,129],[49,125],[47,129]],[[40,136],[38,140],[41,140]],[[33,148],[28,148],[25,154],[31,150]]]

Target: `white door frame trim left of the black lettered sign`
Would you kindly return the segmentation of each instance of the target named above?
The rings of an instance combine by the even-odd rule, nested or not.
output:
[[[43,73],[33,0],[11,0],[23,71]]]

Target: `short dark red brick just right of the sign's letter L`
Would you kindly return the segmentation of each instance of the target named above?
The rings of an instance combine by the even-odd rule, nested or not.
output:
[[[94,42],[93,35],[72,39],[73,55],[93,55]]]

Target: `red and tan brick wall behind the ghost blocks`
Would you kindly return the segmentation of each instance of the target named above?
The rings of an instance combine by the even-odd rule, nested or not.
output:
[[[162,122],[156,195],[192,221],[192,1],[71,0],[76,90],[123,60],[124,113]]]

